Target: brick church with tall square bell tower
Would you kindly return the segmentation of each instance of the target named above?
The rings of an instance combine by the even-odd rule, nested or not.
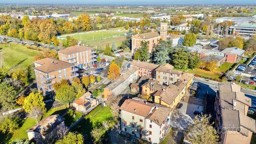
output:
[[[148,43],[148,49],[149,52],[151,53],[152,50],[154,50],[158,44],[158,41],[160,39],[166,40],[167,38],[167,29],[168,29],[168,24],[167,23],[161,23],[161,28],[160,28],[160,35],[158,32],[155,32],[152,30],[150,33],[142,33],[142,34],[137,34],[132,37],[132,53],[140,49],[140,43],[142,41]]]

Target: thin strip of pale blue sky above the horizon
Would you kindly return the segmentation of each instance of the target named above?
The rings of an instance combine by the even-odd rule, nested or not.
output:
[[[255,4],[256,0],[0,0],[0,3],[29,4]]]

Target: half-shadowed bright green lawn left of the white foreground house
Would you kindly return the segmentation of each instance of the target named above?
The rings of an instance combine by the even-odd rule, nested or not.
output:
[[[72,130],[78,131],[84,135],[87,135],[91,138],[90,132],[93,128],[98,127],[102,124],[103,121],[112,118],[112,113],[109,107],[102,107],[99,105],[89,114],[87,114],[84,119],[82,119],[78,125],[76,125]],[[114,121],[111,121],[114,123]]]

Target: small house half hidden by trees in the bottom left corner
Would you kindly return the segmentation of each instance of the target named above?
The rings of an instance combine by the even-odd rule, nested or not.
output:
[[[29,140],[34,139],[36,142],[40,138],[47,139],[48,134],[53,130],[61,130],[66,127],[64,120],[65,118],[63,118],[58,114],[43,118],[38,123],[38,127],[37,127],[37,124],[35,124],[32,128],[27,130],[28,139]],[[51,138],[52,135],[50,135],[49,137]]]

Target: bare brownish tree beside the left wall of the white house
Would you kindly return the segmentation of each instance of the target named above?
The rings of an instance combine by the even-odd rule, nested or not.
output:
[[[110,109],[114,116],[119,115],[119,107],[120,107],[121,99],[122,97],[119,95],[109,95],[109,97],[107,98],[106,104],[110,106]]]

